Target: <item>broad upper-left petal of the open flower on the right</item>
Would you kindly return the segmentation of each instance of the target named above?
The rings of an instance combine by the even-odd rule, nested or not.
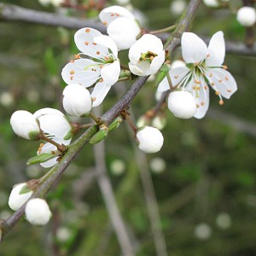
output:
[[[191,32],[183,32],[182,40],[183,59],[187,63],[198,63],[207,56],[207,44]]]

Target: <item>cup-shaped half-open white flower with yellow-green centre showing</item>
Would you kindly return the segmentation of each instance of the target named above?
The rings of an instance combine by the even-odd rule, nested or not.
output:
[[[156,73],[165,61],[165,50],[160,38],[145,34],[129,50],[129,68],[138,76]]]

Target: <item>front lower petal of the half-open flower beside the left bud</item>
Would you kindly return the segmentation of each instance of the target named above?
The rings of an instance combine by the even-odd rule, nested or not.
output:
[[[72,129],[66,117],[62,114],[49,113],[41,116],[39,119],[40,128],[44,133],[50,136],[66,137]]]

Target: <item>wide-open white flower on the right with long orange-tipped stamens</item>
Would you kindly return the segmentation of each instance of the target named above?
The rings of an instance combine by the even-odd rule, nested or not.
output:
[[[201,119],[209,107],[209,87],[219,96],[219,104],[223,105],[222,96],[229,99],[237,90],[236,80],[226,71],[224,62],[225,45],[223,32],[212,36],[207,45],[192,32],[184,32],[182,36],[183,60],[186,67],[177,67],[170,70],[172,86],[188,90],[195,97],[195,118]],[[162,81],[164,82],[164,80]],[[159,90],[169,90],[168,83],[160,84]]]

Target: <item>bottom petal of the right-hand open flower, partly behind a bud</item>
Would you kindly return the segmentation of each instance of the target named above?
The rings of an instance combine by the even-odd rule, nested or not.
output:
[[[196,119],[203,118],[207,110],[209,108],[209,88],[207,84],[205,83],[204,79],[198,79],[200,81],[200,90],[195,89],[195,82],[194,79],[191,79],[189,84],[186,86],[186,90],[189,90],[192,95],[195,97],[195,103],[196,103],[196,112],[194,117]]]

